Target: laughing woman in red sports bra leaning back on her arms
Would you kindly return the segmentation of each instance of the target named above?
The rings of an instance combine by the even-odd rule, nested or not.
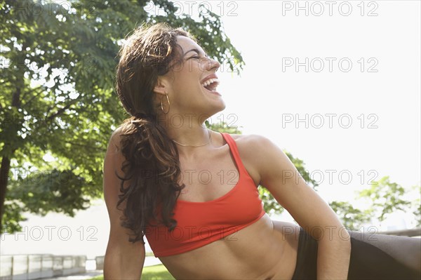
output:
[[[140,278],[143,236],[176,279],[419,276],[420,256],[410,253],[419,241],[394,236],[394,244],[412,248],[409,257],[385,253],[385,236],[370,244],[366,234],[347,231],[267,138],[203,125],[225,108],[220,64],[190,34],[142,26],[119,54],[116,89],[131,118],[105,156],[105,279]],[[258,185],[300,226],[271,220]]]

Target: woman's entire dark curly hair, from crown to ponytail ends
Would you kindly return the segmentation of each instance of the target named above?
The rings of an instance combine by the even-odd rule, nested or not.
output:
[[[180,63],[182,49],[176,36],[194,36],[165,23],[141,25],[126,38],[119,51],[116,69],[116,92],[131,117],[121,124],[121,166],[119,202],[124,202],[121,225],[131,229],[134,238],[143,241],[149,221],[166,225],[171,231],[177,225],[172,218],[175,202],[184,184],[180,185],[180,161],[175,143],[168,137],[157,113],[153,88],[158,76],[168,73]],[[175,63],[173,63],[175,62]],[[128,181],[128,184],[124,184]],[[159,209],[159,211],[157,211]]]

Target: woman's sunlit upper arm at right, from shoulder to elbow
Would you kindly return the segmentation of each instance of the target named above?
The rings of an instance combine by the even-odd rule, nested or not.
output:
[[[309,187],[288,156],[274,143],[255,136],[256,166],[261,185],[315,239],[323,230],[339,229],[342,223],[332,208]],[[319,229],[319,230],[315,230]]]

